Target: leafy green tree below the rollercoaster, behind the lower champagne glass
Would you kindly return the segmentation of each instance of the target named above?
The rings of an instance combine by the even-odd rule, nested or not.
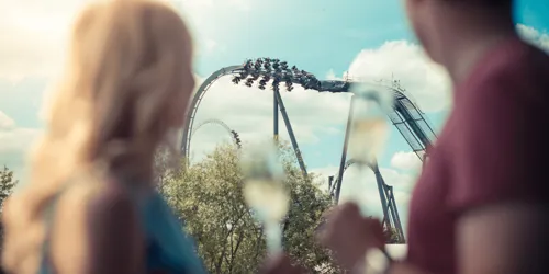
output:
[[[330,256],[314,239],[322,214],[332,206],[330,197],[318,190],[314,176],[303,178],[287,146],[280,149],[292,201],[281,225],[285,251],[316,273],[336,273]],[[186,172],[165,176],[164,193],[184,219],[211,273],[255,273],[266,254],[261,225],[242,194],[238,159],[235,146],[222,146]]]

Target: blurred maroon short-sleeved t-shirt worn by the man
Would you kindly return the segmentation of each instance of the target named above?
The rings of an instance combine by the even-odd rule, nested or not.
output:
[[[456,225],[490,204],[549,201],[549,56],[496,46],[455,90],[455,106],[414,190],[408,261],[455,274]],[[497,228],[494,228],[497,229]]]

